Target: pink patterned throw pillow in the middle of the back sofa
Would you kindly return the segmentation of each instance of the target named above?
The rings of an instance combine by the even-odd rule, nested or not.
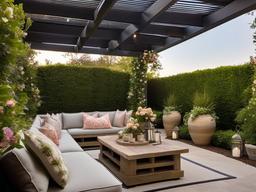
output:
[[[111,128],[109,115],[103,115],[102,117],[93,117],[88,114],[83,116],[84,126],[83,129],[108,129]]]

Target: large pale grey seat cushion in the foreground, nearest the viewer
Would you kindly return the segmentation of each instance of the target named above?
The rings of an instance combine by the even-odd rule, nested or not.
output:
[[[49,192],[121,192],[121,183],[86,152],[63,153],[63,159],[70,170],[68,183],[64,189],[52,185]]]

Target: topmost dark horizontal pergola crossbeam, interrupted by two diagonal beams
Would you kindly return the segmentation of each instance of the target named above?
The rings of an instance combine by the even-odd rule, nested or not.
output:
[[[25,12],[29,14],[59,16],[91,21],[94,20],[94,9],[92,8],[83,8],[65,4],[57,5],[45,2],[43,0],[15,0],[14,2],[16,4],[23,3]],[[125,15],[125,17],[122,17],[122,15]],[[141,14],[139,12],[112,9],[111,12],[104,17],[104,20],[109,22],[118,21],[139,25],[140,20],[138,20],[138,18],[140,16]],[[163,12],[157,18],[155,18],[154,22],[170,23],[175,25],[202,26],[202,16],[188,13]]]

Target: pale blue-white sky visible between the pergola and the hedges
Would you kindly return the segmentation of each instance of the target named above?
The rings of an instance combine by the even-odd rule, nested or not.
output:
[[[254,15],[255,17],[255,15]],[[163,70],[160,76],[191,72],[198,69],[225,65],[239,65],[249,61],[255,54],[253,30],[250,23],[253,16],[245,14],[197,37],[185,41],[160,53]],[[36,60],[45,63],[65,63],[63,52],[37,51]],[[92,55],[93,58],[99,57]]]

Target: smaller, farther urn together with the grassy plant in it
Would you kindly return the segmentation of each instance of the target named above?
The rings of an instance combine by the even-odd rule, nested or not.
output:
[[[166,137],[172,137],[173,129],[180,124],[181,114],[178,111],[178,106],[176,105],[176,98],[171,94],[164,103],[163,110],[163,125],[166,132]]]

